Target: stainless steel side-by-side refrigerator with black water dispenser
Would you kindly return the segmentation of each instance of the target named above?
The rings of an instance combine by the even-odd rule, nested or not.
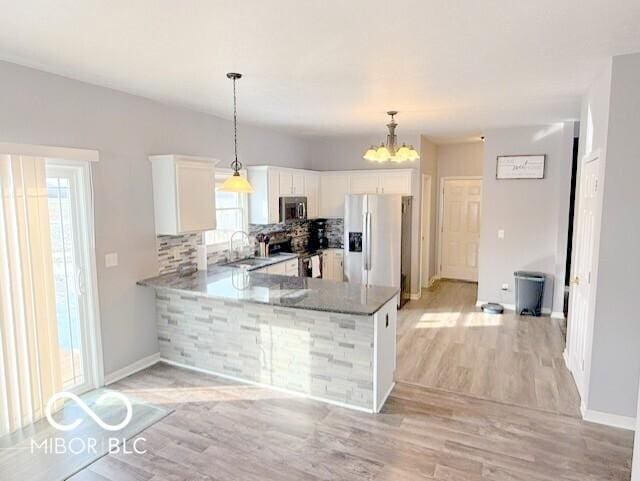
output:
[[[393,286],[409,292],[411,263],[402,262],[402,258],[406,259],[410,252],[403,253],[402,245],[409,246],[410,250],[410,210],[411,197],[374,194],[346,196],[344,274],[347,282]]]

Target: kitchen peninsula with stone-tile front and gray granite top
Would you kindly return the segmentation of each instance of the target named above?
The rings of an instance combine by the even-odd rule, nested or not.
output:
[[[378,412],[393,388],[398,290],[210,266],[156,290],[164,361]]]

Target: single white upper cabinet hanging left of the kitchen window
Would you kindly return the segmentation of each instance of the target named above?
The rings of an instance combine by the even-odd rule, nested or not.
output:
[[[154,155],[151,160],[157,235],[216,228],[215,159]]]

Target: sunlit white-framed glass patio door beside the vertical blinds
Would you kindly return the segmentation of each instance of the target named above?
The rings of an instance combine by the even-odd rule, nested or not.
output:
[[[101,382],[89,175],[86,164],[46,160],[60,374],[76,394]]]

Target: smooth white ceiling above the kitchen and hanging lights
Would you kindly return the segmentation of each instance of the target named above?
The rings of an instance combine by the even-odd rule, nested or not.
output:
[[[0,58],[298,134],[577,118],[638,0],[0,0]],[[1,79],[0,79],[1,82]]]

